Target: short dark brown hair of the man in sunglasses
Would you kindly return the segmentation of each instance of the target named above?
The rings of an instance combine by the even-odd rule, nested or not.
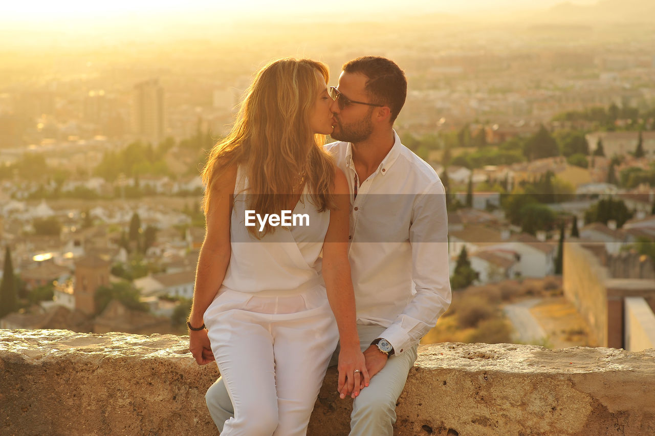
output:
[[[407,98],[407,79],[396,62],[380,56],[362,56],[343,64],[346,73],[365,75],[365,90],[373,103],[383,104],[391,109],[391,124],[400,113]]]

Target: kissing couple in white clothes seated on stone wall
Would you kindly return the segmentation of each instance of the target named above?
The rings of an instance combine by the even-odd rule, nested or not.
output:
[[[221,373],[206,402],[223,436],[305,435],[331,361],[350,435],[392,435],[451,302],[443,184],[393,128],[405,74],[364,56],[328,84],[314,60],[267,64],[202,171],[187,325],[196,362]]]

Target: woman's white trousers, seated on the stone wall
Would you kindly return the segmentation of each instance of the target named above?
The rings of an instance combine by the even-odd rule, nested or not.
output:
[[[305,435],[339,339],[325,288],[223,288],[204,322],[234,405],[221,436]]]

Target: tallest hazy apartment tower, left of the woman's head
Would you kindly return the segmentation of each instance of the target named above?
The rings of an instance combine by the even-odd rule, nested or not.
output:
[[[164,139],[164,88],[159,79],[134,85],[132,131],[153,145]]]

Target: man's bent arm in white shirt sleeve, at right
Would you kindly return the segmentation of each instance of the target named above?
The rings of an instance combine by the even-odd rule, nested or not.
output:
[[[416,293],[381,335],[392,344],[394,354],[421,340],[451,303],[448,215],[441,181],[435,181],[417,196],[409,242]]]

